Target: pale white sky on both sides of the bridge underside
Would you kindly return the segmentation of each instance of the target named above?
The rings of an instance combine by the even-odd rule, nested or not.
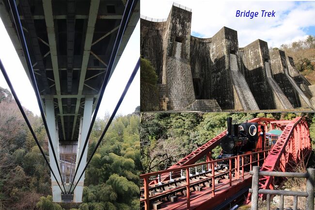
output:
[[[97,117],[104,116],[105,113],[112,113],[114,110],[126,83],[133,71],[140,56],[140,21],[132,33],[128,44],[117,64],[108,86],[105,89],[104,96],[97,113]],[[25,70],[16,54],[11,39],[0,20],[0,59],[8,73],[8,76],[16,91],[17,97],[22,106],[31,112],[40,115],[35,93],[31,87],[31,82],[25,73]],[[0,73],[0,87],[9,89],[3,75]],[[129,90],[122,102],[117,114],[128,114],[134,112],[140,105],[140,70],[133,80]]]

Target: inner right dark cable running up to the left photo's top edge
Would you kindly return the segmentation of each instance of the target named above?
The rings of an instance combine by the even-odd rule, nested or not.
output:
[[[114,61],[115,61],[115,58],[116,58],[116,55],[117,55],[118,48],[119,48],[119,46],[120,46],[120,43],[121,43],[123,34],[124,34],[125,30],[126,30],[127,22],[128,22],[128,20],[129,20],[131,11],[134,9],[134,7],[135,7],[135,5],[136,5],[136,3],[134,3],[135,1],[138,1],[138,0],[128,0],[127,3],[126,3],[124,15],[123,15],[121,24],[120,24],[120,26],[119,26],[119,30],[118,30],[118,33],[117,33],[117,37],[116,37],[116,40],[115,40],[115,44],[114,44],[113,50],[112,50],[111,55],[110,55],[110,62],[109,62],[109,65],[107,66],[105,79],[104,79],[104,81],[103,81],[103,84],[102,84],[102,87],[101,87],[101,91],[100,91],[100,93],[99,93],[99,99],[98,99],[98,101],[96,102],[94,114],[93,114],[93,117],[92,117],[92,121],[91,121],[91,124],[90,124],[90,128],[89,128],[88,133],[87,133],[87,136],[86,136],[86,138],[85,138],[85,142],[84,142],[82,151],[85,150],[86,145],[87,145],[88,142],[89,142],[89,137],[90,137],[90,134],[91,134],[91,131],[92,131],[94,122],[95,122],[95,118],[96,118],[96,115],[97,115],[97,112],[98,112],[98,109],[99,109],[99,106],[100,106],[100,103],[101,103],[101,100],[102,100],[102,97],[103,97],[105,88],[106,88],[107,83],[108,83],[109,78],[110,78],[110,72],[111,72],[112,66],[113,66],[113,64],[114,64]],[[75,178],[76,178],[76,175],[77,175],[77,173],[78,173],[78,168],[79,168],[79,165],[80,165],[80,163],[81,163],[81,161],[82,161],[83,153],[84,153],[84,152],[82,152],[81,155],[80,155],[79,162],[78,162],[77,167],[76,167],[76,170],[75,170],[75,174],[74,174],[73,179],[72,179],[72,181],[71,181],[71,186],[70,186],[70,188],[69,188],[69,193],[70,193],[70,191],[71,191],[71,187],[72,187],[73,182],[74,182],[74,180],[75,180]]]

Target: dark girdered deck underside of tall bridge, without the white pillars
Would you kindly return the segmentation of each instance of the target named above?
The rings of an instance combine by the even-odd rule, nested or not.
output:
[[[54,99],[60,141],[77,141],[85,97],[93,97],[95,107],[126,2],[23,0],[17,3],[43,104],[45,98]],[[139,20],[139,4],[138,1],[133,9],[113,69]],[[0,10],[28,74],[7,0],[0,0]]]

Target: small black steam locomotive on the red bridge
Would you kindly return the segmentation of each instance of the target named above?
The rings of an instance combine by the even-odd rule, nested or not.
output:
[[[228,158],[271,148],[275,141],[269,141],[271,134],[266,136],[267,126],[261,123],[232,123],[232,117],[227,117],[226,136],[221,140],[221,154],[218,159]],[[226,168],[228,162],[221,162]]]

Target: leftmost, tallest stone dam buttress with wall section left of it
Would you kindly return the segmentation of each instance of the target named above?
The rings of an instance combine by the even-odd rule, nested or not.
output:
[[[173,6],[167,21],[141,23],[141,53],[159,77],[159,109],[186,110],[196,99],[189,63],[191,12]]]

